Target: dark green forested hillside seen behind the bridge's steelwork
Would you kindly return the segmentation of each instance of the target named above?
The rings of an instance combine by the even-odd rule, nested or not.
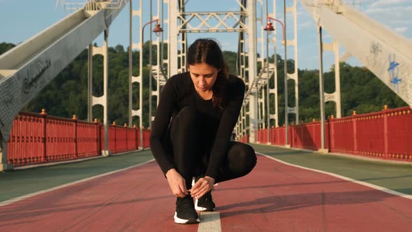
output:
[[[0,55],[13,48],[11,43],[0,43]],[[153,48],[154,57],[156,49]],[[223,55],[230,67],[230,71],[235,73],[235,52],[224,51]],[[149,44],[145,44],[143,54],[143,76],[147,77],[149,59]],[[279,89],[279,124],[284,123],[284,60],[277,56]],[[273,57],[272,57],[273,59]],[[109,119],[117,124],[128,122],[128,52],[122,45],[109,48]],[[139,73],[139,52],[133,52],[133,75]],[[288,70],[292,72],[293,61],[288,60]],[[342,116],[351,115],[353,110],[358,114],[369,113],[381,110],[387,104],[389,108],[407,106],[402,99],[386,87],[381,80],[366,68],[353,67],[346,63],[340,64],[341,69],[341,104]],[[93,64],[95,96],[103,94],[103,57],[95,56]],[[325,91],[334,91],[334,68],[325,70]],[[149,110],[149,80],[143,78],[143,126],[148,125]],[[273,83],[271,83],[273,85]],[[155,86],[155,84],[153,85]],[[319,80],[317,70],[299,70],[299,99],[300,99],[300,119],[310,122],[312,118],[320,118],[319,106]],[[289,82],[289,105],[294,106],[293,82]],[[133,85],[133,108],[138,108],[138,85]],[[272,99],[273,101],[273,99]],[[45,108],[49,115],[59,117],[72,117],[77,115],[79,119],[87,118],[87,50],[84,50],[64,71],[54,78],[36,98],[34,98],[23,111],[40,112]],[[334,113],[334,103],[327,103],[326,115]],[[93,116],[103,119],[103,108],[94,107]],[[294,116],[290,115],[290,122],[294,122]],[[133,119],[134,124],[138,124],[138,119]]]

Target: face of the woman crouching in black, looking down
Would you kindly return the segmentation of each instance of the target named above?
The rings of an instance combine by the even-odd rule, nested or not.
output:
[[[200,92],[208,92],[212,90],[214,82],[216,82],[217,73],[220,69],[214,68],[209,64],[189,64],[189,72],[196,90]]]

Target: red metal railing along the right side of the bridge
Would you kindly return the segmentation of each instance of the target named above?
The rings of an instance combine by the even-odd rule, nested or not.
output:
[[[321,123],[290,125],[291,147],[321,148]],[[267,143],[267,129],[256,131],[258,143]],[[242,137],[243,143],[249,136]],[[330,152],[356,154],[380,159],[412,161],[411,108],[384,109],[381,112],[352,115],[325,122],[325,148]],[[270,144],[285,145],[285,127],[270,129]]]

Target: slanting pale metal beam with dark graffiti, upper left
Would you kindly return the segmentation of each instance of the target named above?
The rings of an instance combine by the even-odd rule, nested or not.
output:
[[[90,17],[78,10],[0,56],[0,69],[16,70],[0,76],[0,131],[4,140],[8,140],[19,110],[108,29],[119,10],[102,9]]]

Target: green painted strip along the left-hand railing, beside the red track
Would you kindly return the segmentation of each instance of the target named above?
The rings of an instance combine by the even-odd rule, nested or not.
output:
[[[153,159],[150,150],[0,173],[0,202]]]

